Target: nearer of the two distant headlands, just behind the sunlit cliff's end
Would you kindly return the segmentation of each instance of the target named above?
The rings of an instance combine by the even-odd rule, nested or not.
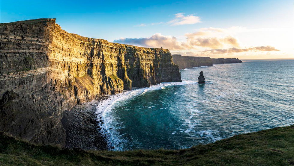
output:
[[[212,66],[210,57],[182,57],[182,55],[173,55],[173,62],[179,66],[179,69]]]

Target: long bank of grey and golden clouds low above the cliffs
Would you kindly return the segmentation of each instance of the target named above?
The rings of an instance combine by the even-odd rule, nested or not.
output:
[[[223,38],[208,37],[208,38],[189,38],[187,37],[187,42],[179,42],[174,36],[164,36],[161,33],[155,33],[151,37],[146,38],[121,38],[114,40],[113,42],[137,45],[141,47],[151,47],[151,48],[167,48],[171,51],[174,50],[192,50],[200,48],[213,48],[210,50],[200,51],[209,52],[211,54],[220,53],[237,53],[237,52],[247,52],[247,51],[279,51],[271,46],[260,46],[260,47],[250,47],[250,48],[239,48],[239,43],[237,39],[232,36],[226,36]],[[228,49],[223,48],[224,45],[232,46]]]

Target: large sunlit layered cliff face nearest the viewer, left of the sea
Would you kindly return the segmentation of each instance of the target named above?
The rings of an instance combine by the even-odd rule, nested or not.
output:
[[[99,94],[181,81],[167,49],[67,33],[55,19],[0,24],[0,130],[64,145],[62,113]]]

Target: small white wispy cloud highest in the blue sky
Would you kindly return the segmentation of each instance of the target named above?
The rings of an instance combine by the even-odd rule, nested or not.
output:
[[[200,18],[198,16],[191,15],[184,15],[185,13],[177,13],[175,14],[176,18],[167,22],[169,25],[186,25],[186,24],[196,24],[198,22],[201,22]]]

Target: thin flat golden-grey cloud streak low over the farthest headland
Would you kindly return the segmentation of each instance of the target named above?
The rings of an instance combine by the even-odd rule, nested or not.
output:
[[[280,51],[271,46],[259,46],[259,47],[250,47],[250,48],[229,48],[229,49],[212,49],[212,50],[205,50],[202,52],[209,52],[211,54],[224,54],[224,53],[238,53],[238,52],[247,52],[247,51]]]

